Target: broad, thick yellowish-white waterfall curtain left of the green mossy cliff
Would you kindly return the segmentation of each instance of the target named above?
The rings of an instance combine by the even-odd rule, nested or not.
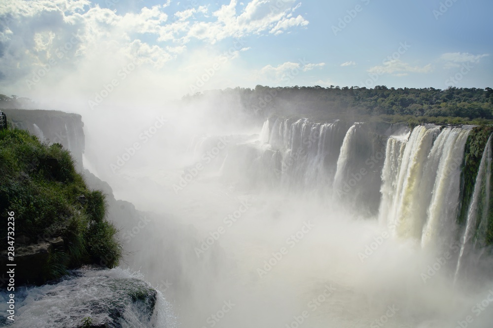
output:
[[[455,229],[460,164],[470,129],[417,126],[390,137],[382,170],[379,220],[395,237],[443,245]]]

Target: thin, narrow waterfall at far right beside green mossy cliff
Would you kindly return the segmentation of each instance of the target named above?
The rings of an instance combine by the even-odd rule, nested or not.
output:
[[[466,226],[464,230],[464,235],[462,239],[460,239],[460,253],[457,261],[457,268],[455,274],[455,281],[457,281],[459,271],[461,268],[462,258],[465,253],[469,251],[471,243],[469,242],[474,237],[474,231],[476,230],[477,225],[477,215],[478,215],[478,207],[481,200],[484,200],[486,204],[489,203],[490,195],[489,195],[489,184],[490,184],[490,175],[491,175],[491,161],[492,161],[492,150],[491,150],[492,136],[488,139],[485,150],[483,151],[483,156],[481,158],[481,163],[479,164],[478,175],[476,176],[476,182],[474,184],[474,191],[472,194],[471,203],[469,205],[469,209],[467,210],[467,220]],[[481,190],[483,188],[483,177],[486,173],[486,196],[484,199],[481,197]],[[488,206],[487,206],[488,207]],[[484,233],[486,231],[486,219],[487,219],[488,209],[483,211],[483,218],[480,225],[479,232]]]

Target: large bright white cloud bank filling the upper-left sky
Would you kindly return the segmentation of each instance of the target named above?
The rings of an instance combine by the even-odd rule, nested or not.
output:
[[[293,16],[298,0],[251,0],[244,6],[230,0],[215,11],[187,6],[175,13],[169,4],[120,12],[89,0],[0,1],[0,88],[43,93],[55,85],[69,89],[70,82],[76,84],[72,89],[92,93],[130,62],[156,75],[149,81],[174,74],[186,86],[197,75],[180,74],[197,61],[192,48],[214,45],[207,52],[212,60],[229,49],[221,58],[232,60],[250,49],[238,40],[275,37],[308,24],[302,15]],[[210,60],[199,61],[206,65]],[[28,85],[34,78],[41,82]],[[172,88],[177,88],[174,81]]]

